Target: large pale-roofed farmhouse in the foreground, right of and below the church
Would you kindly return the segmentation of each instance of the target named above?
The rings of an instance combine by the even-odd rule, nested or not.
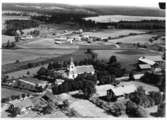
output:
[[[111,98],[119,98],[137,90],[134,84],[124,86],[100,85],[96,86],[96,94],[99,97],[110,96]]]

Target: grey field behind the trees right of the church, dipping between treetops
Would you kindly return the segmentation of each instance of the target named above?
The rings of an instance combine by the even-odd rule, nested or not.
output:
[[[157,55],[157,52],[150,52],[144,49],[132,50],[95,50],[99,59],[108,60],[112,55],[117,57],[117,60],[127,70],[134,69],[134,64],[138,58],[145,55]]]

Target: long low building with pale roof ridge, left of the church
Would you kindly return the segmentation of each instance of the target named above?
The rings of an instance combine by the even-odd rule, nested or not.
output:
[[[44,89],[46,85],[46,81],[41,81],[35,78],[23,78],[14,81],[14,86],[29,90],[37,90],[37,87]]]

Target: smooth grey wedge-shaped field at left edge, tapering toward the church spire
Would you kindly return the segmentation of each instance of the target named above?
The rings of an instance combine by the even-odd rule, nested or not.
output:
[[[58,57],[64,54],[69,54],[74,50],[60,49],[17,49],[17,50],[2,50],[2,64],[14,63],[16,60],[27,61],[39,58]]]

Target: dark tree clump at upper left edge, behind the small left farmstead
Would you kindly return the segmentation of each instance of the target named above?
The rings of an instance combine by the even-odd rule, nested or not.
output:
[[[14,36],[16,34],[16,30],[39,26],[38,22],[34,20],[7,20],[5,25],[6,27],[2,33],[9,36]]]

